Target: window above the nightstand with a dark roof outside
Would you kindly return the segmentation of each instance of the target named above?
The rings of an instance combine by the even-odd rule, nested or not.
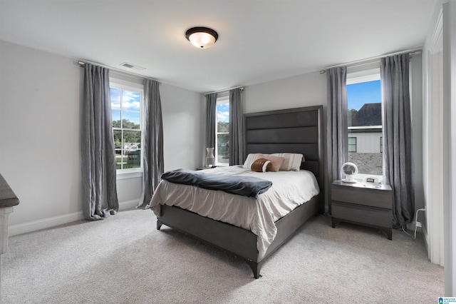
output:
[[[358,173],[383,177],[380,69],[347,75],[348,161]]]

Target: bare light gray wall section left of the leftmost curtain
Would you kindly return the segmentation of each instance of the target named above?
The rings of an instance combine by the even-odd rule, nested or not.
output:
[[[80,68],[0,41],[0,83],[0,172],[21,201],[10,226],[77,218]]]

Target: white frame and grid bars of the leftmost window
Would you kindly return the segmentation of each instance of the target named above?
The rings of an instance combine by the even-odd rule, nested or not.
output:
[[[133,92],[138,92],[140,93],[140,128],[138,129],[131,129],[131,128],[119,128],[119,127],[114,127],[113,126],[113,132],[116,130],[124,130],[124,131],[140,131],[141,132],[141,148],[140,148],[140,166],[138,168],[120,168],[116,169],[116,173],[118,174],[118,179],[123,179],[123,178],[133,178],[133,177],[139,177],[142,176],[142,171],[144,170],[143,168],[143,159],[144,159],[144,115],[143,115],[143,106],[144,106],[144,86],[142,86],[139,83],[134,83],[130,81],[124,81],[122,79],[118,78],[110,78],[110,83],[109,83],[109,88],[117,88],[120,90],[125,90],[125,91],[133,91]],[[113,110],[120,110],[120,112],[125,111],[122,110],[122,105],[120,108],[113,108],[112,103],[111,103],[111,113],[113,113]],[[112,114],[111,114],[112,115]],[[120,117],[122,119],[122,116]],[[115,151],[119,150],[118,148],[115,148]],[[124,151],[124,148],[120,149],[121,151]],[[116,168],[117,168],[117,160],[116,160]]]

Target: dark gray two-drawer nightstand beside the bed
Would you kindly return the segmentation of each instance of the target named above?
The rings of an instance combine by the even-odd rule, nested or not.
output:
[[[371,226],[393,238],[393,191],[389,185],[333,181],[331,185],[332,226],[341,221]]]

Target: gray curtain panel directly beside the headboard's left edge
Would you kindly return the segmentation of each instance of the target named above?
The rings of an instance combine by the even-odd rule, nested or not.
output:
[[[244,163],[244,113],[241,88],[229,91],[229,166]]]

